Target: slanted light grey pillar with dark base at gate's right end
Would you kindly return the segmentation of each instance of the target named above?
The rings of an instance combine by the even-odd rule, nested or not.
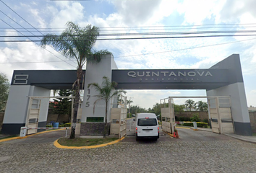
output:
[[[252,136],[239,55],[233,54],[211,68],[229,69],[229,85],[207,90],[207,96],[230,96],[235,133]]]

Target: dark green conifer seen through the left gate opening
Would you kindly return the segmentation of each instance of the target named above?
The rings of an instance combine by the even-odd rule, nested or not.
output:
[[[72,94],[72,91],[69,89],[60,89],[60,97],[69,97]],[[71,120],[71,98],[58,98],[54,99],[54,102],[50,103],[50,108],[53,110],[54,114],[58,114],[56,122],[59,122],[59,117],[61,115],[69,115],[69,122]]]

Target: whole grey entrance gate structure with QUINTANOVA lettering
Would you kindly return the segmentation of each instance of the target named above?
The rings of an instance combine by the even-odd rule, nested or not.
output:
[[[103,76],[106,76],[110,81],[118,83],[115,89],[205,89],[207,97],[230,96],[235,133],[252,136],[239,54],[233,54],[210,68],[199,69],[118,69],[114,57],[109,54],[101,56],[99,63],[87,63],[83,74],[85,78],[80,80],[80,84],[84,84],[85,98],[81,105],[80,135],[100,135],[98,132],[101,130],[98,129],[101,124],[111,123],[111,103],[106,107],[105,102],[100,101],[93,112],[93,103],[97,99],[93,96],[98,95],[98,92],[93,88],[88,89],[88,84],[101,84]],[[27,123],[29,97],[49,97],[51,89],[72,89],[76,79],[76,70],[14,71],[1,133],[20,133],[20,128]],[[105,120],[106,109],[109,113],[108,120]],[[228,108],[221,106],[217,110],[228,111]],[[48,100],[42,99],[39,128],[46,127],[47,112]],[[225,118],[218,123],[229,121],[224,120]],[[226,125],[228,124],[223,124]],[[224,133],[228,129],[230,128],[220,128]]]

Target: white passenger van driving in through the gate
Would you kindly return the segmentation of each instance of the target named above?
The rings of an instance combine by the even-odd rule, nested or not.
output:
[[[140,138],[159,138],[158,119],[154,113],[138,113],[135,119],[136,141]]]

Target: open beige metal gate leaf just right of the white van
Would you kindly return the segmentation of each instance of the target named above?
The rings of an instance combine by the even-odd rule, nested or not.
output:
[[[166,98],[160,100],[161,117],[162,117],[162,130],[174,134],[174,99]]]

